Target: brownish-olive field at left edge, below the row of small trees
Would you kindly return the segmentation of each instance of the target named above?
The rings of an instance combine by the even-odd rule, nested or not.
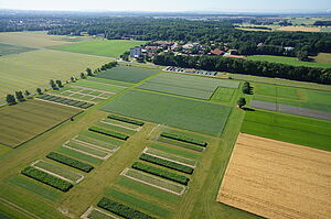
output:
[[[0,109],[0,143],[17,147],[79,113],[79,109],[29,100]]]

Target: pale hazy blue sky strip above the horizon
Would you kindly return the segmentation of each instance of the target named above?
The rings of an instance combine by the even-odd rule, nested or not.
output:
[[[331,11],[331,0],[0,0],[1,9],[56,11]]]

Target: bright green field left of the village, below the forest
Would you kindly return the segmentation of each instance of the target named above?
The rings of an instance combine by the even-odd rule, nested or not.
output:
[[[145,41],[94,40],[78,44],[63,45],[54,47],[54,50],[84,53],[88,55],[119,57],[124,52],[130,50],[130,47],[145,43]]]

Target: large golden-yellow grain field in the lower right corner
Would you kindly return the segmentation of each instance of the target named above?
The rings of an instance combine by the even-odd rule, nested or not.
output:
[[[273,219],[329,219],[331,152],[241,133],[217,201]]]

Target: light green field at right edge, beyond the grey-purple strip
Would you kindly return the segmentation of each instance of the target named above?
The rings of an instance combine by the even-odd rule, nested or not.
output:
[[[331,111],[331,92],[268,84],[254,84],[254,100]]]

